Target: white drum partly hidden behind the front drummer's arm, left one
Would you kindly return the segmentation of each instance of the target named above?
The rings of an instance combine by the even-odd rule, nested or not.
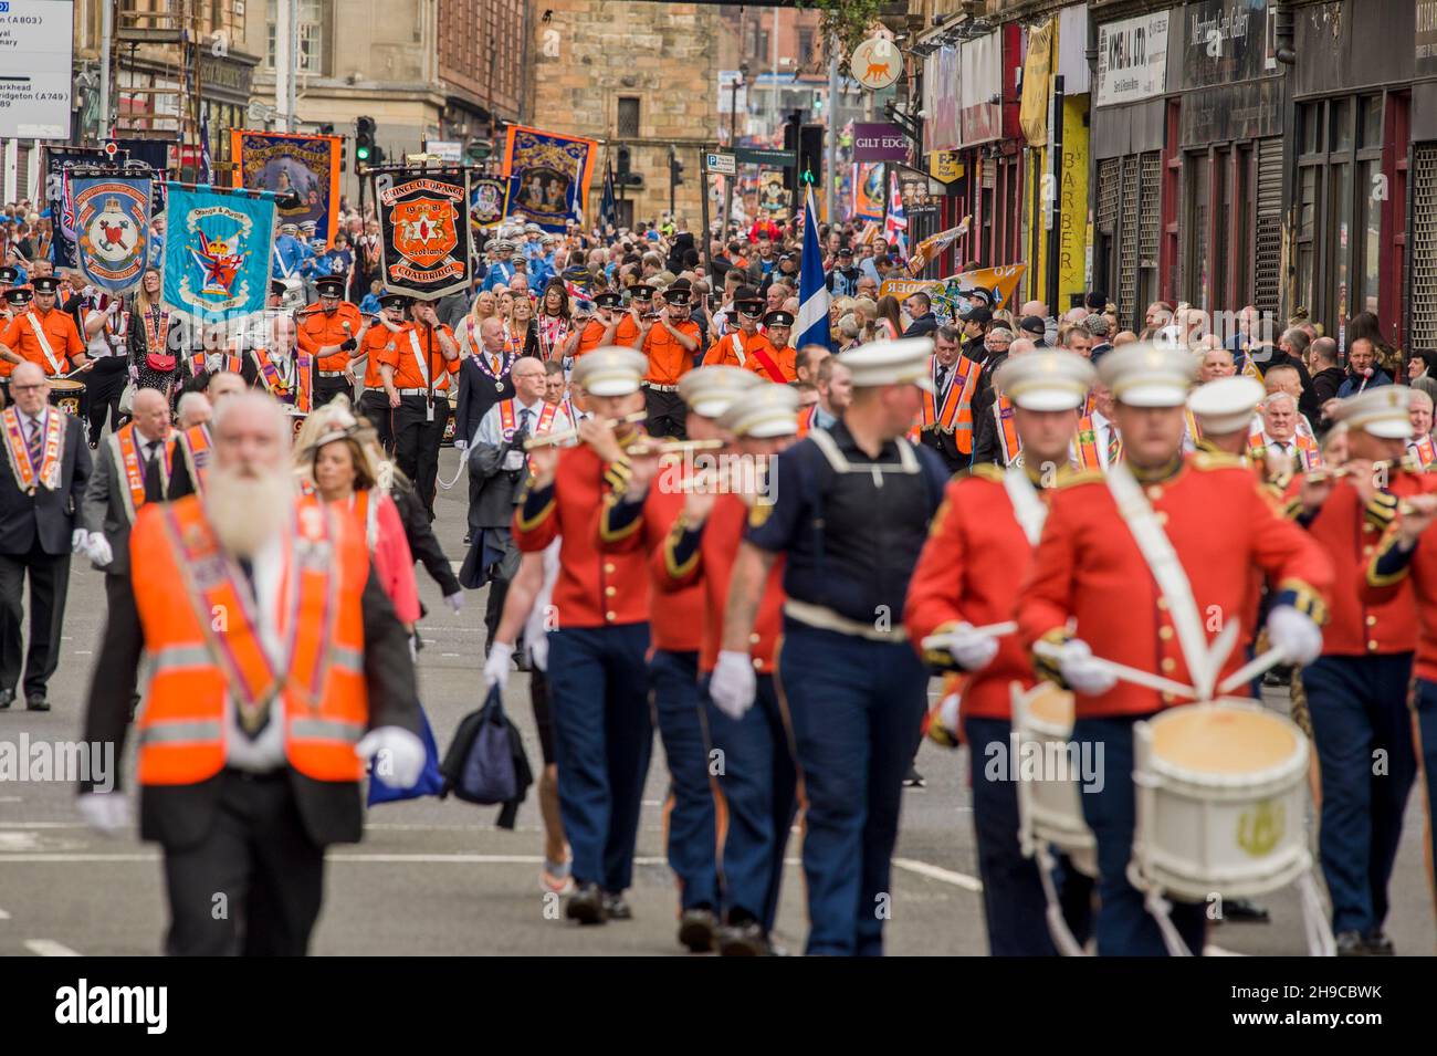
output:
[[[1073,697],[1052,682],[1026,693],[1013,684],[1013,744],[1023,772],[1026,759],[1055,760],[1039,766],[1039,776],[1017,782],[1019,840],[1032,856],[1038,843],[1052,843],[1072,859],[1073,868],[1098,875],[1098,840],[1082,816],[1082,790],[1069,741],[1073,731]]]

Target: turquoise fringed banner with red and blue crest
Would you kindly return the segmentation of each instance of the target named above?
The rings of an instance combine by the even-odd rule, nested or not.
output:
[[[218,187],[167,188],[165,307],[201,323],[264,310],[274,200]]]

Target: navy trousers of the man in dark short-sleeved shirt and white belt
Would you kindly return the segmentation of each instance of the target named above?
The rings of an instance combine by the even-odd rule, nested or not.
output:
[[[907,642],[783,621],[779,684],[803,774],[809,954],[884,951],[902,779],[928,672]],[[785,675],[785,672],[792,675]]]

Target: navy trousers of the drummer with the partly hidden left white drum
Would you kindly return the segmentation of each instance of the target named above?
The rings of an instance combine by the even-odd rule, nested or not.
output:
[[[973,832],[977,836],[979,876],[983,881],[983,915],[993,957],[1056,957],[1048,931],[1048,899],[1038,875],[1038,859],[1023,858],[1017,840],[1017,784],[1009,780],[1012,751],[1006,718],[963,720],[973,784]],[[989,746],[999,746],[989,749]],[[996,756],[992,753],[997,753]],[[997,780],[987,774],[990,759],[1004,763]],[[1092,881],[1059,856],[1053,884],[1073,938],[1086,941],[1092,925]]]

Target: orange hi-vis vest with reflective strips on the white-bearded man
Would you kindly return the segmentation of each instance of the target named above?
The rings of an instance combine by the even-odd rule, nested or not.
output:
[[[154,678],[139,730],[141,784],[194,784],[226,761],[233,707],[283,703],[285,756],[322,782],[358,782],[369,720],[361,596],[369,553],[354,517],[300,499],[285,539],[283,655],[270,657],[253,601],[198,497],[149,503],[131,533],[135,606]],[[279,721],[273,714],[270,721]]]

